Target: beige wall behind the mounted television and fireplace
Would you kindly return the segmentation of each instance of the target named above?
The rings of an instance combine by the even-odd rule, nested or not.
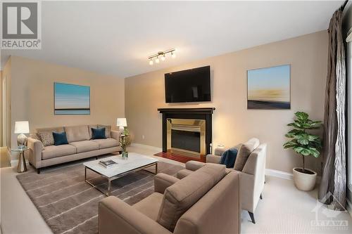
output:
[[[247,110],[246,70],[284,64],[291,64],[291,110]],[[165,104],[164,74],[203,65],[211,67],[212,102]],[[134,143],[161,147],[161,114],[157,108],[214,107],[213,145],[230,147],[258,137],[268,143],[266,167],[291,172],[292,167],[301,166],[301,157],[282,148],[289,129],[286,124],[298,110],[308,112],[312,119],[323,119],[326,76],[326,31],[140,74],[125,79],[127,125]],[[320,162],[310,158],[308,166],[320,172]]]

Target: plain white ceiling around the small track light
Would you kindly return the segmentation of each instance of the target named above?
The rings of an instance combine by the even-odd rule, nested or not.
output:
[[[130,77],[325,30],[343,1],[43,1],[42,49],[2,50]],[[147,57],[177,49],[177,58]]]

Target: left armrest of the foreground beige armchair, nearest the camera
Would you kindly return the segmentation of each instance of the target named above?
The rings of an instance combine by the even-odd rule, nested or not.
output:
[[[118,197],[99,202],[99,234],[171,234],[156,221],[137,211]]]

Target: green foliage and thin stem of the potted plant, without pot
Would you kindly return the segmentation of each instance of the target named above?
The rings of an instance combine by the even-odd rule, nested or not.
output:
[[[322,148],[322,140],[320,136],[310,134],[308,131],[312,129],[320,129],[321,121],[313,121],[308,119],[306,112],[296,112],[296,119],[291,124],[294,129],[289,131],[285,136],[290,138],[290,141],[284,143],[284,148],[292,148],[296,153],[300,154],[303,159],[303,173],[308,173],[304,167],[304,157],[313,156],[319,157],[320,149]]]

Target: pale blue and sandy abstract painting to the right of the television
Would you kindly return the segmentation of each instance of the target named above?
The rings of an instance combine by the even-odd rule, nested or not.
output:
[[[290,65],[247,71],[247,109],[290,109]]]

